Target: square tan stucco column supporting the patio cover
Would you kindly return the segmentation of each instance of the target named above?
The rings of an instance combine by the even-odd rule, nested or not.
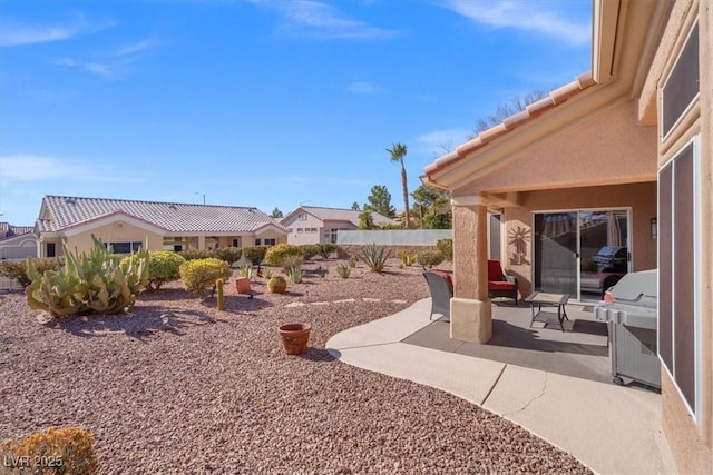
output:
[[[492,307],[488,298],[488,212],[480,196],[455,197],[453,298],[450,337],[487,343],[492,336]]]

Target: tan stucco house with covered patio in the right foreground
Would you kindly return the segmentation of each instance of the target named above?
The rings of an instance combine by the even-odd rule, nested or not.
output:
[[[489,249],[521,297],[587,300],[593,250],[627,247],[658,268],[664,432],[681,473],[711,473],[713,2],[594,0],[593,24],[590,73],[426,167],[453,194],[451,337],[492,334]]]

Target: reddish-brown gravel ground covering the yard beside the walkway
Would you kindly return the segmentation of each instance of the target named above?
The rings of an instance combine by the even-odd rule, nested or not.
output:
[[[224,311],[172,283],[129,315],[45,321],[2,293],[0,441],[82,426],[102,474],[590,473],[466,400],[328,354],[338,331],[428,296],[418,268],[390,264],[344,280],[329,261],[283,295],[258,278],[253,298],[231,280]],[[286,356],[277,327],[295,321],[310,349]]]

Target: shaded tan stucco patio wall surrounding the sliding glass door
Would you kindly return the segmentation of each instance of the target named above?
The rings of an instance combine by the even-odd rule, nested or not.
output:
[[[533,289],[533,212],[537,211],[631,208],[633,270],[657,267],[656,240],[651,237],[651,218],[656,216],[655,182],[528,191],[521,194],[520,199],[521,207],[507,208],[504,212],[505,255],[501,261],[508,274],[518,277],[521,297]],[[529,236],[527,264],[517,265],[510,260],[515,249],[507,237],[522,230]]]

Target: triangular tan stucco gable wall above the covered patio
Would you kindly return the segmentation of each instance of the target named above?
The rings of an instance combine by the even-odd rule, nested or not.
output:
[[[508,157],[455,195],[652,181],[655,156],[656,128],[637,126],[635,102],[627,100]]]

